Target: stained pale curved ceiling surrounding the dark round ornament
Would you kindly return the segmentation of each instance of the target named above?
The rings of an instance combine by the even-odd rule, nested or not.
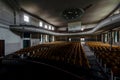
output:
[[[82,8],[84,14],[73,21],[82,24],[93,24],[107,17],[118,5],[120,0],[17,0],[20,7],[48,23],[67,27],[68,22],[62,17],[66,8]],[[73,22],[72,21],[72,22]]]

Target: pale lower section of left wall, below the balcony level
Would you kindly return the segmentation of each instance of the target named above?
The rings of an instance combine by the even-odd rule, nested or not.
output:
[[[5,55],[21,49],[21,38],[3,24],[0,24],[0,39],[5,40]]]

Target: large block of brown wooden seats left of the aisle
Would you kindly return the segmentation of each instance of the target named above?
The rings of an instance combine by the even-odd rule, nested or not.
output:
[[[30,59],[47,59],[90,68],[80,42],[52,42],[24,48],[14,56]]]

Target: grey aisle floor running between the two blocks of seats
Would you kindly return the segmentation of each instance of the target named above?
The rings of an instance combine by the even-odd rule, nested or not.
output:
[[[81,44],[83,47],[83,50],[88,58],[89,64],[91,66],[91,76],[94,80],[108,80],[107,77],[104,75],[103,70],[97,63],[97,60],[94,56],[94,52],[92,52],[89,47],[85,44]]]

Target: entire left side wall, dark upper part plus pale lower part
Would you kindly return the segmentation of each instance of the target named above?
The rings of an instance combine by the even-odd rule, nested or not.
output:
[[[0,1],[0,39],[5,40],[5,55],[21,48],[21,38],[9,29],[14,24],[12,9]]]

